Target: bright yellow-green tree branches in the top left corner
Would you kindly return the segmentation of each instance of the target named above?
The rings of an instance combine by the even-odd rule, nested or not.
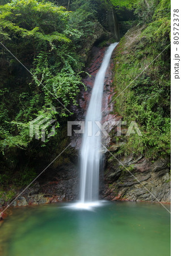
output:
[[[9,33],[11,39],[21,36],[45,44],[70,40],[62,34],[62,27],[69,15],[64,7],[36,0],[14,0],[1,6],[0,12],[1,27]]]

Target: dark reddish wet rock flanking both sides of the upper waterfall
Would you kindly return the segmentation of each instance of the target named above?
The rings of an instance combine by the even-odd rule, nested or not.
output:
[[[100,65],[102,64],[102,60],[104,57],[104,53],[106,52],[108,47],[98,48],[93,47],[91,51],[91,57],[92,61],[87,67],[86,72],[89,73],[90,76],[86,76],[85,79],[83,79],[83,83],[86,85],[87,90],[82,90],[79,94],[78,99],[78,106],[75,106],[73,108],[73,112],[75,113],[74,119],[76,121],[84,121],[86,117],[86,110],[89,106],[90,97],[91,97],[91,91],[94,86],[94,81],[96,74],[99,71]],[[104,91],[103,91],[103,101],[102,101],[102,124],[104,122],[111,122],[111,121],[119,121],[120,117],[117,117],[115,114],[112,114],[113,111],[113,104],[111,104],[112,97],[115,94],[112,86],[113,82],[113,57],[114,53],[112,54],[111,61],[110,61],[110,67],[107,69],[106,77],[104,81]],[[110,124],[107,124],[106,131],[107,133],[110,133],[112,130],[112,127]],[[79,128],[77,127],[76,130]],[[81,147],[81,139],[82,134],[74,134],[71,137],[71,145],[75,148],[75,150],[79,150]],[[110,137],[106,137],[102,135],[103,144],[105,146],[108,146],[108,144],[111,142]]]

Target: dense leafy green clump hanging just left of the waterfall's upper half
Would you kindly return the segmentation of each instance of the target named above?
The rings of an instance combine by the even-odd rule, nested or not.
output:
[[[66,50],[62,53],[59,47],[54,48],[54,52],[56,52],[54,61],[50,59],[48,53],[40,53],[34,61],[36,67],[32,70],[34,80],[37,86],[41,86],[41,83],[44,85],[45,104],[47,105],[51,103],[49,92],[52,92],[56,98],[61,98],[65,107],[77,104],[76,96],[82,82],[81,76],[74,70],[78,71],[78,66],[81,67],[81,63],[78,63],[71,53],[66,53]],[[67,116],[65,109],[62,110],[62,115]]]

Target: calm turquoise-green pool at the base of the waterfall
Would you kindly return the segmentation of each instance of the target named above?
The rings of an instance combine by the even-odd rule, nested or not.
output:
[[[14,209],[0,227],[3,256],[170,255],[170,213],[160,204],[113,202],[92,211],[66,206]]]

